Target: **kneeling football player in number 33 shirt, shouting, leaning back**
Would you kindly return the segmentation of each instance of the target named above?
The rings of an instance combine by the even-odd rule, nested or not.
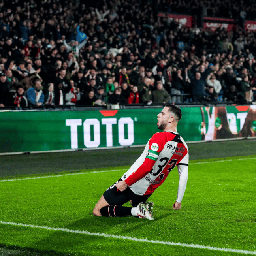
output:
[[[145,150],[130,169],[109,187],[94,207],[96,216],[137,216],[153,220],[153,203],[147,202],[154,190],[166,179],[177,165],[179,186],[173,209],[181,209],[181,201],[188,179],[188,147],[177,132],[181,120],[181,109],[166,104],[157,115],[158,129],[163,132],[149,139]],[[131,200],[133,207],[122,206]]]

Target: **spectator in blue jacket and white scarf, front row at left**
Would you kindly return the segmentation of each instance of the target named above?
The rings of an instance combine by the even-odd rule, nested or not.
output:
[[[44,102],[44,94],[43,94],[43,87],[41,84],[41,81],[39,79],[36,79],[34,81],[34,85],[26,91],[26,98],[28,99],[28,102],[30,105],[34,107],[39,107],[43,105]]]

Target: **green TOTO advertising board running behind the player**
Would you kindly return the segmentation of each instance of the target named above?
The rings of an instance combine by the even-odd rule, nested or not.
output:
[[[0,111],[0,152],[145,145],[162,108],[86,111]],[[256,136],[256,106],[182,108],[185,141]]]

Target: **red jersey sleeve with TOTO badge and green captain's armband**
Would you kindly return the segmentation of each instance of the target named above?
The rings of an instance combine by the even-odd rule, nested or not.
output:
[[[134,171],[130,176],[126,178],[125,182],[128,186],[136,183],[152,170],[159,156],[159,153],[162,151],[163,148],[164,144],[162,143],[160,133],[154,134],[149,140],[149,150],[147,152],[147,156],[144,162],[141,164],[141,166],[139,166],[136,171]]]

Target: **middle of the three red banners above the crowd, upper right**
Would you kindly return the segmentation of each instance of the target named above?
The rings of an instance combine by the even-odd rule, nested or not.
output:
[[[236,27],[234,19],[223,19],[223,18],[203,18],[203,29],[211,29],[215,31],[217,28],[225,29],[226,31],[233,30]]]

